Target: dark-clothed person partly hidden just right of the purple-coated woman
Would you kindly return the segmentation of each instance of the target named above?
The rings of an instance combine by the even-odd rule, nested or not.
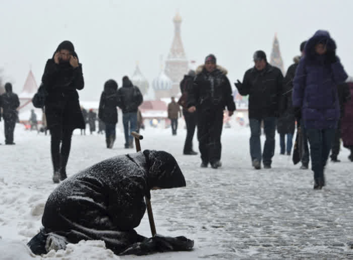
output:
[[[341,119],[344,115],[344,106],[345,103],[351,98],[350,91],[347,83],[343,83],[337,86],[338,88],[338,102],[339,102],[339,120],[337,124],[337,129],[335,131],[335,136],[332,140],[332,149],[331,149],[331,162],[340,162],[337,158],[341,146]]]

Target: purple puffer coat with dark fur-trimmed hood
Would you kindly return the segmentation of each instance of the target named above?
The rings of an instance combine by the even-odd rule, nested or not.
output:
[[[326,43],[327,53],[315,53],[315,45]],[[293,82],[293,106],[302,108],[304,125],[308,129],[336,128],[339,119],[337,85],[347,79],[338,57],[330,63],[336,44],[327,31],[317,31],[305,45]]]

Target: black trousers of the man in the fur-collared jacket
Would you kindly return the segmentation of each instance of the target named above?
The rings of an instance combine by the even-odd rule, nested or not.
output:
[[[214,163],[221,158],[220,137],[223,127],[223,111],[200,111],[197,115],[197,139],[201,159]]]

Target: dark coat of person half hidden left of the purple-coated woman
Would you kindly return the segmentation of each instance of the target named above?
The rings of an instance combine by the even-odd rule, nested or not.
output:
[[[294,115],[294,108],[292,102],[292,89],[293,79],[296,75],[296,69],[299,64],[300,57],[297,56],[294,59],[287,70],[287,73],[283,79],[283,92],[279,101],[279,118],[277,121],[277,132],[279,134],[294,134],[296,128],[296,118]]]

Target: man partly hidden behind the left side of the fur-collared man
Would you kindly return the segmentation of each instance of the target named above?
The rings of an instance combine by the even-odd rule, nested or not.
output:
[[[193,138],[197,123],[197,113],[190,113],[187,107],[188,93],[193,89],[195,75],[195,71],[190,70],[188,75],[185,75],[184,79],[180,83],[180,91],[182,96],[178,100],[178,104],[183,107],[183,115],[186,124],[186,139],[183,151],[185,155],[197,155],[197,153],[193,150]]]

